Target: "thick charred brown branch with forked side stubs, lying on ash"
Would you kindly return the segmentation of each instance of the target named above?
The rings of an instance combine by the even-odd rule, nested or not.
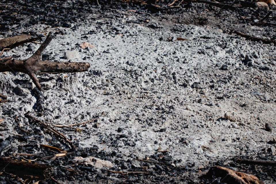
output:
[[[38,74],[46,73],[74,73],[85,72],[90,67],[85,62],[49,62],[41,59],[41,53],[52,40],[51,32],[37,51],[26,60],[15,60],[10,58],[0,63],[0,72],[22,72],[28,74],[33,83],[40,91],[44,91],[36,77]],[[5,58],[3,58],[5,59]]]

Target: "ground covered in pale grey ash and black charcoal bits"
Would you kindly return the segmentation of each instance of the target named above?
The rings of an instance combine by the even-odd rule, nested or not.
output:
[[[52,176],[60,183],[211,183],[199,176],[214,165],[275,182],[273,168],[233,161],[276,159],[276,47],[233,33],[275,39],[275,26],[250,25],[268,12],[188,3],[156,13],[146,5],[99,3],[0,3],[0,37],[52,32],[43,59],[91,65],[87,72],[40,75],[45,89],[40,95],[28,75],[1,73],[0,93],[11,100],[0,104],[5,128],[0,138],[11,136],[1,155],[20,159],[16,153],[54,153],[40,144],[69,149],[29,123],[24,114],[30,111],[49,125],[99,118],[78,126],[82,131],[56,128],[77,145],[76,154],[37,162],[51,164],[56,169]],[[268,22],[275,23],[275,16],[273,11]],[[96,47],[81,49],[83,41]],[[39,46],[25,44],[1,57],[26,59]],[[64,59],[67,51],[75,51],[75,58]],[[74,156],[109,160],[114,167],[108,169],[114,171],[150,173],[122,175],[74,166]],[[7,183],[17,180],[0,178]]]

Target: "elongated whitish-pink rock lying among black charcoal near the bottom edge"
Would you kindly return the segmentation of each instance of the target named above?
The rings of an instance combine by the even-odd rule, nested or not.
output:
[[[85,166],[93,166],[97,168],[103,168],[103,167],[113,167],[113,164],[107,160],[101,160],[99,158],[95,158],[93,156],[88,156],[88,157],[81,157],[81,156],[76,156],[72,160],[73,163],[76,164],[84,164]]]

